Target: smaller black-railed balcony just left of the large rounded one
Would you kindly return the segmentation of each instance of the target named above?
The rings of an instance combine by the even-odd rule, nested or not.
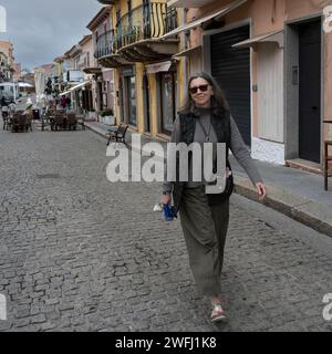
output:
[[[121,58],[117,53],[117,35],[115,30],[106,31],[98,35],[96,40],[96,50],[94,58],[102,66],[118,67],[128,64],[126,60]]]

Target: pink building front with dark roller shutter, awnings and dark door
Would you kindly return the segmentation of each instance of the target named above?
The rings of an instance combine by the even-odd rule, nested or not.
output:
[[[253,158],[319,170],[332,121],[332,1],[169,0],[187,80],[211,73]],[[195,8],[195,9],[194,9]],[[189,9],[189,10],[188,10]],[[329,74],[330,73],[330,74]]]

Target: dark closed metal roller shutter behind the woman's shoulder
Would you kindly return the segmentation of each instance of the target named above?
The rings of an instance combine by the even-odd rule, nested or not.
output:
[[[226,93],[245,143],[251,145],[250,50],[231,45],[249,39],[249,25],[211,35],[211,74]]]

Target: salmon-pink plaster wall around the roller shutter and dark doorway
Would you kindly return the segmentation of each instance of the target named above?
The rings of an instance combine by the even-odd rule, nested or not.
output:
[[[225,4],[230,3],[229,0],[215,1],[209,6],[201,9],[190,9],[187,12],[187,22],[194,18],[198,19],[211,11],[222,8]],[[251,37],[257,37],[272,31],[283,30],[287,21],[294,21],[311,15],[322,14],[326,6],[332,6],[332,0],[249,0],[235,11],[225,17],[226,25],[242,20],[251,19]],[[201,29],[190,31],[191,46],[201,44]],[[323,35],[323,86],[324,86],[324,117],[332,121],[332,33]],[[252,84],[257,83],[257,53],[252,52],[251,55],[252,67],[251,79]],[[253,136],[258,135],[258,94],[252,92],[252,133]],[[325,127],[325,134],[328,134]],[[332,134],[332,127],[330,128]],[[331,135],[332,136],[332,135]]]

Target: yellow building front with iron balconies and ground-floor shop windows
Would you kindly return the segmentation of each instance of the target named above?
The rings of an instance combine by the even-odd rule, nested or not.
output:
[[[183,96],[177,38],[160,37],[178,25],[165,0],[100,1],[111,7],[111,30],[100,34],[98,63],[114,70],[116,123],[168,139]],[[105,46],[105,50],[102,50]]]

